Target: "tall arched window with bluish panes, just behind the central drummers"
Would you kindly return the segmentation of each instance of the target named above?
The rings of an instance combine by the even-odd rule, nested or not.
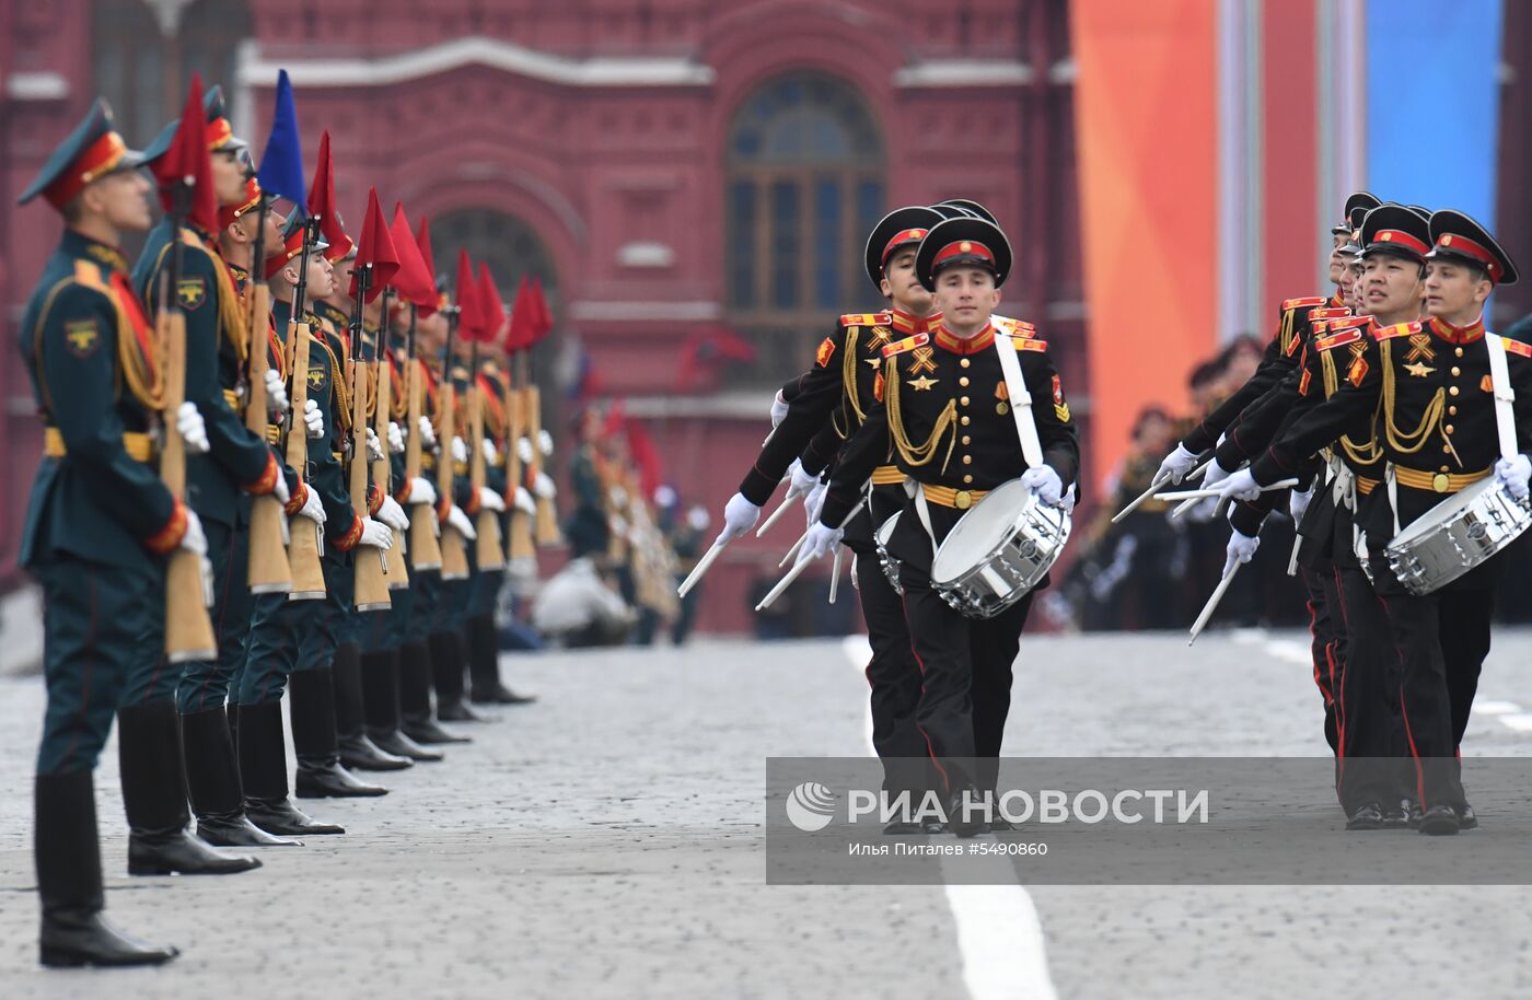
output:
[[[760,346],[741,374],[771,381],[835,315],[878,305],[861,257],[884,213],[882,138],[849,83],[794,72],[740,104],[725,162],[729,317]]]

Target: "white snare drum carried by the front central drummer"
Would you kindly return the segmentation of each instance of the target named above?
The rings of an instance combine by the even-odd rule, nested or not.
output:
[[[1011,479],[953,525],[931,560],[931,588],[965,617],[994,617],[1037,587],[1068,541],[1069,513]]]

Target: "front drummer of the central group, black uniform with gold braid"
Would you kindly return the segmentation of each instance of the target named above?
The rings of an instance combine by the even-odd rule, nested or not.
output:
[[[976,798],[976,790],[994,789],[1011,666],[1031,594],[993,619],[965,619],[931,588],[933,553],[959,518],[1002,482],[1020,478],[1040,502],[1060,505],[1079,473],[1080,444],[1048,345],[1030,325],[1014,323],[1045,464],[1028,469],[1022,456],[991,325],[1011,268],[1005,234],[984,219],[947,219],[921,240],[915,268],[942,322],[882,349],[875,404],[841,455],[801,557],[840,542],[840,524],[863,484],[892,453],[916,490],[889,542],[901,564],[905,620],[922,674],[916,723],[938,769],[948,822],[971,836],[984,824],[964,809],[965,793]],[[930,528],[922,524],[927,516]]]

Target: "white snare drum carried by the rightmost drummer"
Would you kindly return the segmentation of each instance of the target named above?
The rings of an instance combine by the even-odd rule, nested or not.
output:
[[[1475,570],[1532,525],[1527,501],[1485,476],[1394,536],[1385,553],[1411,594],[1429,594]]]

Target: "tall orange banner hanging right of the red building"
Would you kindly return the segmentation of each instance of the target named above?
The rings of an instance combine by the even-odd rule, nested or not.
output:
[[[1094,490],[1215,349],[1216,0],[1072,0]]]

